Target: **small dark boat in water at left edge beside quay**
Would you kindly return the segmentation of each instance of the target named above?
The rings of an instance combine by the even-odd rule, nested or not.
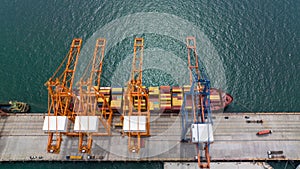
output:
[[[30,106],[24,102],[9,101],[8,103],[1,103],[0,110],[6,113],[27,113]]]

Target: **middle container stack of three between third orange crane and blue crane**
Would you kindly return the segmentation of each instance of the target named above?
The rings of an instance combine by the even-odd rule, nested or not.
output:
[[[170,86],[160,86],[160,109],[168,112],[172,108],[172,98]]]

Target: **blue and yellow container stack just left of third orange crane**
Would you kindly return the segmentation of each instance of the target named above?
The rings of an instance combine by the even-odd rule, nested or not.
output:
[[[111,108],[114,112],[120,112],[122,108],[122,97],[123,97],[123,88],[113,87],[111,88]]]

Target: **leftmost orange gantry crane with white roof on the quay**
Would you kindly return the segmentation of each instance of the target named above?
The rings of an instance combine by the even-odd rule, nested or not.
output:
[[[65,131],[60,130],[61,119],[67,118],[74,122],[75,115],[72,110],[73,81],[76,71],[77,61],[82,44],[81,39],[73,39],[69,53],[64,61],[55,71],[54,75],[45,83],[48,88],[48,116],[44,121],[43,130],[48,132],[47,151],[50,153],[59,153],[62,141],[62,134]],[[65,69],[62,67],[65,64]],[[61,71],[63,71],[61,73]],[[58,75],[58,73],[61,73]]]

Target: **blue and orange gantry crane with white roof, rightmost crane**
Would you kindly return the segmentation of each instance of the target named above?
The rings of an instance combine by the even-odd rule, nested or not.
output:
[[[187,37],[186,45],[188,49],[188,68],[190,70],[191,89],[184,94],[182,104],[182,132],[183,142],[192,142],[196,145],[198,166],[200,168],[210,168],[209,148],[213,142],[212,118],[210,110],[210,81],[207,79],[205,71],[199,71],[199,60],[196,52],[195,37]],[[187,98],[192,101],[192,109],[187,109]],[[187,138],[190,130],[191,139]],[[205,162],[201,161],[201,155],[205,155]]]

